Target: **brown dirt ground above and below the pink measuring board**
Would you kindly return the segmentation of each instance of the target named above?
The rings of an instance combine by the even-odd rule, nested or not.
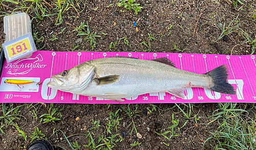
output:
[[[44,4],[44,8],[48,10],[46,14],[59,13],[58,10],[53,9],[56,1],[38,2]],[[2,4],[0,15],[10,14],[14,9],[24,12],[28,10],[30,18],[33,18],[31,24],[33,37],[40,51],[249,55],[253,52],[252,45],[256,43],[256,41],[253,42],[256,29],[256,1],[240,1],[243,4],[235,1],[237,6],[232,2],[229,4],[228,0],[136,1],[135,3],[143,7],[138,15],[134,10],[123,12],[125,9],[117,6],[120,3],[117,0],[72,2],[76,9],[70,5],[70,8],[62,14],[61,24],[56,23],[57,14],[45,16],[42,20],[34,18],[36,17],[34,10],[28,7],[35,7],[36,4],[32,5],[29,1],[24,3],[27,6],[26,9],[19,9],[20,4],[0,2]],[[3,16],[0,18],[1,43],[5,40],[3,18]],[[84,30],[81,29],[81,32],[87,33],[88,28],[90,33],[100,36],[95,37],[96,44],[93,48],[93,43],[91,45],[90,41],[84,41],[86,35],[77,36],[79,31],[73,31],[81,25],[81,22],[88,23],[89,26],[84,27]],[[116,43],[115,47],[110,48],[111,42]],[[13,107],[21,105],[23,104],[14,104]],[[122,141],[111,144],[115,145],[112,149],[202,149],[204,141],[218,128],[216,121],[208,124],[211,121],[208,117],[217,109],[216,104],[194,104],[191,117],[197,115],[197,119],[185,118],[175,104],[156,104],[156,110],[152,112],[148,110],[153,109],[152,105],[139,104],[138,115],[132,119],[122,109],[127,108],[128,105],[110,105],[109,108],[108,106],[54,104],[52,108],[63,108],[61,117],[60,114],[56,115],[60,120],[55,123],[40,122],[39,116],[48,113],[50,104],[46,106],[38,104],[29,108],[22,106],[18,114],[24,117],[19,116],[20,119],[15,119],[14,122],[28,136],[27,141],[23,136],[19,136],[17,129],[10,124],[8,128],[3,128],[6,134],[0,136],[0,149],[26,149],[31,142],[30,136],[37,127],[53,145],[57,145],[56,149],[62,149],[59,146],[71,149],[68,141],[58,130],[63,131],[67,137],[74,135],[68,139],[71,143],[77,141],[81,145],[80,149],[90,149],[83,146],[90,141],[90,136],[86,136],[89,132],[95,142],[99,139],[98,135],[110,139],[112,135],[119,134]],[[184,105],[180,106],[183,109]],[[136,105],[130,105],[130,107],[133,110]],[[117,125],[117,131],[112,129],[110,134],[106,131],[108,128],[106,123],[111,120],[109,113],[115,113],[118,109],[122,110],[118,113],[121,120]],[[33,110],[36,110],[37,118],[33,117]],[[186,110],[187,108],[184,107],[184,111]],[[0,112],[2,115],[3,107]],[[173,135],[177,136],[167,139],[163,135],[156,134],[172,131],[168,127],[174,124],[173,114],[174,119],[179,119],[179,125],[174,128],[175,133],[173,132]],[[93,129],[95,125],[92,119],[100,121],[98,129]],[[131,134],[132,126],[127,128],[131,122],[136,122],[136,130],[142,138],[138,138],[135,131]],[[53,134],[56,131],[58,131],[57,134]],[[120,138],[119,135],[114,138],[114,141]],[[171,135],[171,133],[166,134],[168,138]],[[141,144],[131,145],[137,141]],[[215,141],[212,143],[208,141],[204,148],[211,149],[212,145],[215,145]]]

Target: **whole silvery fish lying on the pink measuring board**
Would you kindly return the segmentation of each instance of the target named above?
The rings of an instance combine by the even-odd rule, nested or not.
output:
[[[227,82],[227,65],[205,74],[178,69],[166,57],[141,60],[109,57],[83,62],[52,76],[48,87],[79,95],[114,101],[146,93],[167,92],[185,98],[185,88],[205,88],[224,94],[236,94]]]

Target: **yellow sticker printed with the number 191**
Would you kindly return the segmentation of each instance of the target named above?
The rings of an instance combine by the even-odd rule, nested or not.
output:
[[[10,59],[14,59],[18,56],[26,55],[32,51],[29,38],[22,39],[16,43],[6,46]]]

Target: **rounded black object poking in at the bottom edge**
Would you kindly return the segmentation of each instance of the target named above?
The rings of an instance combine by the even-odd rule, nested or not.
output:
[[[48,140],[41,139],[41,140],[32,142],[29,145],[28,150],[54,150],[54,149]]]

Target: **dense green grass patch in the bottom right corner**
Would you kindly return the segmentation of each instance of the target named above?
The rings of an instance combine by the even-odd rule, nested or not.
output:
[[[205,142],[209,141],[212,149],[255,149],[256,122],[243,114],[248,112],[236,109],[236,103],[218,103],[217,106],[219,109],[214,111],[209,123],[217,121],[219,127]]]

